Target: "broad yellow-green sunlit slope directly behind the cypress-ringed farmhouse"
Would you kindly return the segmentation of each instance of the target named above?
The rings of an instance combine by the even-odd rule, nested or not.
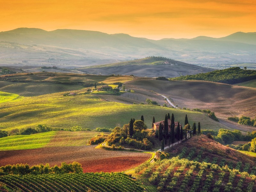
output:
[[[113,128],[129,123],[131,118],[140,119],[143,115],[150,128],[153,116],[160,121],[168,112],[174,113],[175,120],[182,124],[188,114],[191,124],[200,121],[203,128],[225,127],[198,112],[152,105],[127,105],[100,100],[94,95],[64,97],[63,93],[24,97],[17,102],[0,104],[0,126],[2,130],[34,127],[37,124],[47,124],[52,128],[71,128],[75,125],[90,129]]]

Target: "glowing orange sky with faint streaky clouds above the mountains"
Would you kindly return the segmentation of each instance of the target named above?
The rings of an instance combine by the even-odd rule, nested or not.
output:
[[[0,0],[0,31],[68,28],[151,39],[221,37],[255,32],[255,10],[255,0]]]

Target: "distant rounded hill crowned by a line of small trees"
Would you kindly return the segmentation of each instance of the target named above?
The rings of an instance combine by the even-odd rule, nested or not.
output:
[[[191,65],[165,57],[147,57],[143,59],[136,59],[119,63],[84,67],[79,68],[78,70],[85,73],[101,75],[132,74],[134,76],[147,77],[176,77],[180,75],[206,73],[209,71],[213,71],[214,69],[199,67],[196,65]]]

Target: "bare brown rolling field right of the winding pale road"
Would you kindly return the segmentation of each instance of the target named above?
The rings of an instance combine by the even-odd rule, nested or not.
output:
[[[208,81],[159,81],[137,79],[126,82],[126,87],[146,89],[170,97],[183,108],[210,109],[218,117],[256,116],[256,88]],[[141,90],[144,94],[147,91]]]

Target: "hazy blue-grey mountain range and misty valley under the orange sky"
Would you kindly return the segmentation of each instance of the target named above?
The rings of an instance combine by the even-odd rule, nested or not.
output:
[[[30,64],[38,64],[54,58],[76,67],[102,64],[103,59],[113,63],[147,56],[163,56],[197,65],[256,63],[256,32],[237,32],[221,38],[161,40],[72,29],[17,28],[0,32],[0,65],[18,64],[25,59]]]

